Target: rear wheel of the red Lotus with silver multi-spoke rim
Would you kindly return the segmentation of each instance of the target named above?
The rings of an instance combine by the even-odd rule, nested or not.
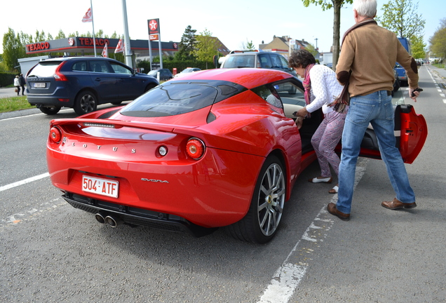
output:
[[[241,241],[266,243],[276,235],[286,195],[285,170],[276,156],[269,156],[260,170],[248,213],[227,231]]]

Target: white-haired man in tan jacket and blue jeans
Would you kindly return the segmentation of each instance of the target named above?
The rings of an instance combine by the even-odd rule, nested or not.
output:
[[[338,81],[348,90],[343,90],[346,94],[337,99],[334,109],[342,110],[348,104],[350,107],[342,133],[338,200],[336,204],[329,203],[327,211],[345,221],[350,220],[356,161],[369,123],[377,135],[381,158],[396,192],[393,201],[384,201],[381,206],[391,210],[417,206],[403,159],[396,148],[391,102],[393,67],[397,61],[407,73],[409,95],[417,102],[417,62],[393,32],[377,25],[373,19],[376,13],[376,0],[353,1],[356,24],[344,34],[336,67]]]

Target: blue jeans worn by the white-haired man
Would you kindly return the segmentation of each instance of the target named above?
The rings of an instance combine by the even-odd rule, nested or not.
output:
[[[336,208],[349,214],[355,183],[356,161],[360,144],[369,123],[377,135],[379,152],[387,168],[396,198],[403,203],[415,202],[400,151],[395,147],[392,97],[386,90],[352,97],[342,132],[342,155],[339,164],[339,192]],[[377,189],[378,190],[378,189]]]

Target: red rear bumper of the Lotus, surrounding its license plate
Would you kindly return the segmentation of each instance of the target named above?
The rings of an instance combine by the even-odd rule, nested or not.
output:
[[[245,216],[264,158],[211,148],[206,154],[193,164],[168,165],[88,159],[47,149],[47,161],[53,185],[86,201],[175,215],[206,228],[222,227]],[[228,163],[235,169],[227,169]],[[119,182],[118,198],[86,193],[81,189],[83,175]]]

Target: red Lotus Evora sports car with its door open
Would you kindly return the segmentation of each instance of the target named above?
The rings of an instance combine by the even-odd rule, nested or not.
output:
[[[125,107],[51,121],[50,178],[68,203],[112,227],[197,236],[227,227],[236,238],[266,243],[297,176],[316,159],[310,140],[323,114],[298,130],[292,112],[303,105],[302,83],[285,72],[194,72]],[[426,122],[408,105],[398,105],[396,116],[400,151],[412,163]],[[372,129],[361,155],[379,159]]]

